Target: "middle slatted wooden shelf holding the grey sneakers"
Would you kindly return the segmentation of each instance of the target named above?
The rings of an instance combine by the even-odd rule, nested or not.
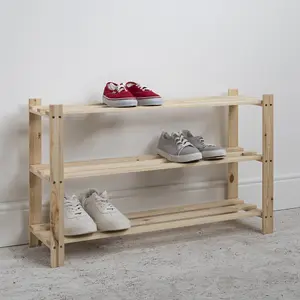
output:
[[[261,159],[261,154],[253,151],[245,151],[243,148],[227,149],[227,156],[224,159],[201,160],[198,162],[184,164],[168,162],[165,158],[155,155],[105,158],[88,161],[66,162],[64,164],[64,179],[228,164],[232,162],[252,160],[261,161]],[[31,165],[30,171],[44,180],[50,180],[49,164]]]

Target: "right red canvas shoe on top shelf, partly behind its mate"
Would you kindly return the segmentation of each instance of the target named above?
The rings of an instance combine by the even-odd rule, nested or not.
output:
[[[126,88],[133,96],[135,96],[138,105],[162,105],[163,103],[162,98],[158,94],[136,82],[127,82]]]

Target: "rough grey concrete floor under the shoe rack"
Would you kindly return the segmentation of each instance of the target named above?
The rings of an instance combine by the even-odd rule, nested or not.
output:
[[[300,209],[261,220],[68,245],[49,268],[44,247],[0,249],[0,299],[300,299]]]

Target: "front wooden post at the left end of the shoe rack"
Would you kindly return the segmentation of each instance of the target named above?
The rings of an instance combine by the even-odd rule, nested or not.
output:
[[[50,240],[51,267],[64,264],[63,106],[50,105]]]

